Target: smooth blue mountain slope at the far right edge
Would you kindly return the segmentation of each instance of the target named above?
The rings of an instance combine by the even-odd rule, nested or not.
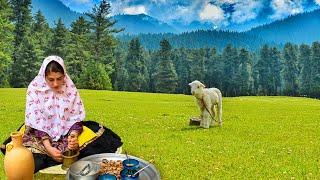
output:
[[[320,41],[320,9],[253,28],[247,34],[275,43]]]

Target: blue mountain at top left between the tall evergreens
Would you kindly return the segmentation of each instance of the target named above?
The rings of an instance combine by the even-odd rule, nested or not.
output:
[[[32,14],[38,10],[44,14],[50,27],[54,27],[54,22],[59,18],[65,26],[70,27],[71,23],[82,15],[72,11],[59,0],[32,0]]]

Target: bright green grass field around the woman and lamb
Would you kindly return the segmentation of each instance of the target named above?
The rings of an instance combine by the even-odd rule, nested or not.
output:
[[[188,125],[198,115],[192,96],[80,94],[87,119],[119,134],[129,154],[154,159],[162,179],[320,179],[319,100],[224,98],[223,127],[202,129]],[[24,105],[25,89],[0,89],[1,142],[24,121]]]

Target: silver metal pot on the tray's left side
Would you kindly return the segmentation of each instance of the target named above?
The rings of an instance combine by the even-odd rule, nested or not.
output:
[[[74,180],[95,180],[99,176],[100,165],[92,161],[77,161],[69,168],[69,178]]]

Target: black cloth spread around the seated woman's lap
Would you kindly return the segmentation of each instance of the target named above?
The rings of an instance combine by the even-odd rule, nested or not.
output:
[[[99,123],[95,121],[82,121],[82,124],[93,132],[98,132],[100,129]],[[21,127],[20,127],[21,128]],[[19,129],[20,129],[19,128]],[[94,154],[100,153],[114,153],[117,148],[122,146],[121,138],[114,133],[111,129],[103,126],[104,132],[97,139],[87,144],[83,149],[80,150],[79,159],[87,157]],[[18,130],[19,130],[18,129]],[[11,141],[11,137],[3,142],[4,145]],[[3,154],[5,154],[5,149],[1,148]],[[35,173],[41,169],[60,164],[55,162],[51,157],[45,154],[33,153],[33,158],[35,162]]]

